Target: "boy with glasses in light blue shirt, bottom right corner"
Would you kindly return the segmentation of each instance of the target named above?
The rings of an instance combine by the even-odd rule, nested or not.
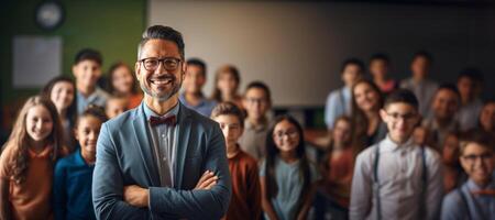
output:
[[[459,160],[470,178],[446,196],[441,219],[495,219],[493,138],[484,132],[473,132],[461,143]]]

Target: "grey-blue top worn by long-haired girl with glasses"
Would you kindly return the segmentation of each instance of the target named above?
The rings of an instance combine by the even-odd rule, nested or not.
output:
[[[299,175],[299,160],[294,163],[286,163],[280,157],[275,157],[275,180],[278,193],[272,198],[272,206],[280,220],[292,220],[297,218],[297,205],[304,198],[302,176]],[[309,164],[310,183],[318,179],[318,170],[314,164]],[[260,176],[265,176],[265,161],[263,161]],[[267,216],[265,216],[266,219]]]

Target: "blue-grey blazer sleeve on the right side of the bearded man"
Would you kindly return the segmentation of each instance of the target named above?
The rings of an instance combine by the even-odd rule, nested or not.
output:
[[[217,185],[209,190],[150,187],[153,215],[176,215],[186,219],[220,219],[224,216],[232,194],[226,143],[217,123],[210,132],[205,170],[212,170],[219,177]]]

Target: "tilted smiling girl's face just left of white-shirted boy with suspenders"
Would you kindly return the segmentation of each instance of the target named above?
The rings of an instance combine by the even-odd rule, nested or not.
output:
[[[354,87],[354,99],[358,108],[363,110],[364,112],[370,112],[373,110],[377,110],[380,94],[376,92],[372,86],[366,82],[362,82],[355,85]]]

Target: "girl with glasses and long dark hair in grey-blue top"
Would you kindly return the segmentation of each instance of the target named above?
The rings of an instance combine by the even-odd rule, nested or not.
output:
[[[306,156],[302,128],[289,116],[275,119],[260,172],[266,219],[307,219],[318,177]]]

